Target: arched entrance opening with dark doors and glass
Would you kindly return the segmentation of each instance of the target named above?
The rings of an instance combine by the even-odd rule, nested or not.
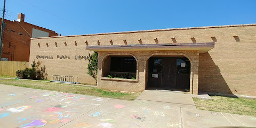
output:
[[[188,58],[152,56],[147,64],[146,89],[190,91],[191,63]]]

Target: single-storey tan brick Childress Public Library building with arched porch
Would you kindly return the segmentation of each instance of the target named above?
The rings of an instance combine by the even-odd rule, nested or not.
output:
[[[98,52],[97,81],[88,75]],[[99,89],[255,95],[256,24],[31,38],[47,79]]]

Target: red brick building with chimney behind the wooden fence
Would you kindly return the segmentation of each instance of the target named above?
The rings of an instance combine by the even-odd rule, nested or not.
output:
[[[58,36],[55,31],[25,22],[25,15],[22,13],[18,14],[17,21],[5,19],[4,23],[1,60],[5,61],[29,61],[31,37]]]

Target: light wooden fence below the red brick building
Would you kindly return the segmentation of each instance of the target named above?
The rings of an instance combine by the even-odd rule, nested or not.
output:
[[[0,61],[0,75],[16,76],[16,71],[29,68],[29,62],[23,61]]]

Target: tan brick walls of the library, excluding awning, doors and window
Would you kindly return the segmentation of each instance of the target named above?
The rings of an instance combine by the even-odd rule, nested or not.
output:
[[[234,35],[238,35],[238,37],[233,37]],[[175,37],[175,40],[171,39],[172,37]],[[198,65],[199,68],[194,69],[193,67],[193,75],[191,75],[191,77],[193,77],[193,81],[191,81],[191,84],[198,85],[198,91],[255,95],[255,24],[36,38],[31,40],[30,59],[34,60],[36,54],[87,55],[89,51],[85,50],[86,41],[90,46],[99,44],[111,45],[110,39],[112,40],[113,45],[123,45],[124,39],[127,44],[140,44],[138,38],[141,38],[142,44],[193,43],[190,37],[194,37],[194,42],[196,43],[215,42],[215,47],[209,52],[199,53],[199,55],[197,55],[198,53],[195,51],[195,53],[193,53],[193,55],[196,55],[195,58],[199,58],[199,61],[198,59],[197,61],[193,61],[193,66]],[[157,42],[154,38],[157,38]],[[97,43],[98,40],[99,43]],[[75,41],[77,42],[77,46],[74,45]],[[49,47],[46,47],[46,42],[49,43]],[[55,47],[55,42],[60,44],[60,46]],[[67,42],[67,47],[63,44],[64,42]],[[42,47],[38,47],[37,43],[42,44]],[[106,82],[109,84],[106,85],[108,89],[124,89],[130,91],[144,90],[147,67],[143,67],[141,62],[144,62],[146,65],[145,60],[149,53],[163,52],[179,53],[181,51],[100,52],[99,66],[101,64],[100,61],[102,61],[102,55],[106,55],[107,53],[134,54],[139,62],[139,78],[138,82],[100,80],[98,86],[102,87],[102,82]],[[193,51],[182,51],[184,54],[189,54],[190,58],[194,58],[190,52]],[[86,74],[87,60],[81,62],[81,60],[74,61],[71,59],[43,59],[43,63],[45,63],[49,75],[57,73],[63,75],[74,75],[79,76],[79,81],[81,82],[94,83],[94,79]],[[101,69],[99,69],[99,74],[100,70]],[[99,78],[100,77],[98,77],[98,79]],[[197,86],[193,86],[194,93],[197,93],[196,88]]]

